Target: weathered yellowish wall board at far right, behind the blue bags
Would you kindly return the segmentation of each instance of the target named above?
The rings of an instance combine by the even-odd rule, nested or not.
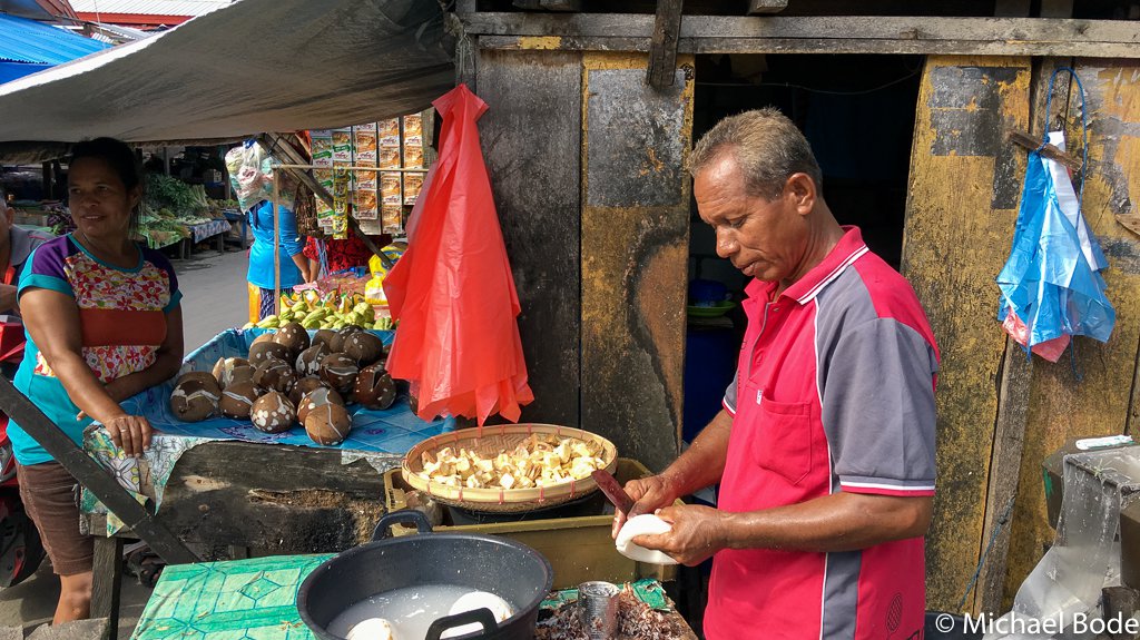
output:
[[[1116,307],[1116,328],[1107,344],[1076,338],[1074,377],[1068,354],[1053,364],[1034,363],[1025,451],[1015,509],[1005,601],[1052,542],[1044,508],[1041,462],[1067,440],[1135,433],[1134,385],[1140,350],[1140,243],[1115,220],[1140,202],[1140,65],[1133,60],[1078,60],[1076,71],[1089,100],[1090,178],[1083,214],[1108,256],[1105,272],[1109,301]],[[1080,150],[1078,100],[1069,105],[1068,148]]]

